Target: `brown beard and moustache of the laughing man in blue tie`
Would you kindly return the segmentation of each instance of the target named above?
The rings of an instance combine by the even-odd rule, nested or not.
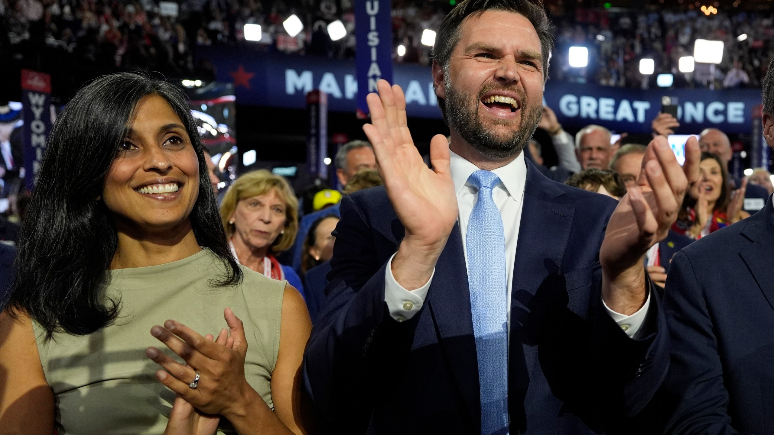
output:
[[[519,120],[518,127],[507,132],[505,138],[500,138],[492,132],[492,128],[481,122],[481,118],[478,116],[478,102],[489,91],[495,89],[505,90],[507,89],[506,87],[485,86],[478,93],[475,101],[473,101],[470,95],[457,91],[457,89],[451,86],[450,80],[447,80],[445,88],[447,120],[450,127],[457,130],[457,133],[460,134],[465,142],[471,144],[474,149],[489,159],[505,159],[522,152],[527,141],[535,132],[538,122],[540,122],[540,117],[543,115],[542,104],[532,107],[528,106],[524,91],[516,89],[515,91],[519,93],[522,101],[521,119]],[[473,105],[471,103],[473,102],[475,105],[474,108],[471,108]],[[509,125],[511,122],[492,119],[491,124]]]

